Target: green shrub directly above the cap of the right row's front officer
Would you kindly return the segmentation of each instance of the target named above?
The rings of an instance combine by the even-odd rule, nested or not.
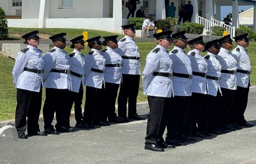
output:
[[[163,31],[172,30],[174,26],[177,24],[176,18],[168,17],[166,19],[158,19],[155,21],[155,26],[157,29],[162,29]]]

